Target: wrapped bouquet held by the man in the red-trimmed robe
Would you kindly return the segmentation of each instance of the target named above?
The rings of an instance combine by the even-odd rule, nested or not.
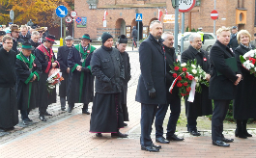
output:
[[[52,89],[56,88],[57,84],[60,84],[64,78],[62,77],[62,72],[60,72],[59,68],[51,68],[49,70],[48,78],[47,78],[47,90],[48,92],[52,92]]]

